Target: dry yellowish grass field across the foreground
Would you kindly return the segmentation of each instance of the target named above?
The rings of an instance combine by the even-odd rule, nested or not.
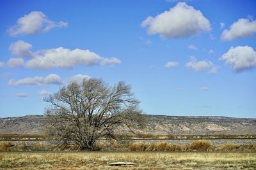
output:
[[[106,165],[117,161],[137,164]],[[256,153],[0,152],[0,169],[256,169]]]

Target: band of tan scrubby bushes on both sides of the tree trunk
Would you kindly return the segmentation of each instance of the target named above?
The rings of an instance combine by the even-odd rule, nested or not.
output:
[[[51,145],[45,143],[26,143],[20,142],[14,145],[12,142],[0,142],[0,151],[77,151],[78,145]],[[157,143],[118,143],[115,140],[98,141],[95,145],[97,151],[132,151],[132,152],[227,152],[227,151],[244,151],[255,152],[254,145],[237,145],[226,143],[221,146],[213,146],[207,140],[193,141],[190,145],[172,145],[166,141]]]

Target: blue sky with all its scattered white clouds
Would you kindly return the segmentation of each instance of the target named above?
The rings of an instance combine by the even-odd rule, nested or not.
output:
[[[131,85],[147,114],[256,118],[256,1],[0,1],[0,117],[70,81]]]

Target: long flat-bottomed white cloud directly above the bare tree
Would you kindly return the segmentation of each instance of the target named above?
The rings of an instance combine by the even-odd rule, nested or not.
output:
[[[35,57],[26,62],[26,67],[34,69],[51,69],[58,68],[72,68],[77,64],[93,66],[93,65],[114,65],[120,64],[119,59],[100,57],[97,53],[90,50],[82,50],[76,48],[70,50],[68,48],[52,48],[48,50],[42,50],[34,53]]]

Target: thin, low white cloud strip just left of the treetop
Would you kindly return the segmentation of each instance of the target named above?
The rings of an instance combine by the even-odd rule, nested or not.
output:
[[[62,80],[60,76],[57,74],[49,74],[45,78],[42,76],[35,76],[33,78],[23,78],[20,80],[10,80],[8,82],[8,85],[13,86],[13,87],[18,87],[20,85],[51,85],[51,84],[56,84],[60,85],[62,84]]]

